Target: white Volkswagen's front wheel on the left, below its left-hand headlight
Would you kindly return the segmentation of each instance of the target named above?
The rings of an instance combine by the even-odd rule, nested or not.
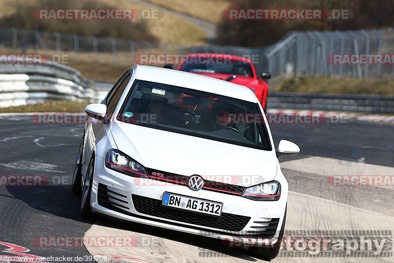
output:
[[[92,157],[92,159],[89,162],[89,167],[86,172],[85,181],[82,188],[80,216],[85,219],[93,218],[93,212],[90,207],[90,195],[92,193],[94,172],[95,172],[95,157]]]

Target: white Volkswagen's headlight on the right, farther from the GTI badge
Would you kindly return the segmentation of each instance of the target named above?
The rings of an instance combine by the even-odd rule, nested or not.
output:
[[[277,181],[246,188],[243,197],[257,201],[276,201],[280,197],[280,184]]]

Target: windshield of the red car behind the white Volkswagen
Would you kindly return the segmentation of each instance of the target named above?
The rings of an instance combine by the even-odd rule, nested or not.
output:
[[[253,77],[252,68],[249,63],[235,60],[212,64],[186,63],[182,65],[180,70],[196,73],[223,73]]]

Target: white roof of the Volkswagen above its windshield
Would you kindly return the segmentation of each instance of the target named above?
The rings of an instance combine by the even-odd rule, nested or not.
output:
[[[253,103],[258,102],[249,88],[229,81],[152,66],[135,65],[132,69],[135,71],[136,79],[210,92]]]

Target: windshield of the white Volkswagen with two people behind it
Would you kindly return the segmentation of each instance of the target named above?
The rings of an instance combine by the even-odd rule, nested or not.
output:
[[[257,103],[135,80],[117,119],[134,125],[271,150]]]

